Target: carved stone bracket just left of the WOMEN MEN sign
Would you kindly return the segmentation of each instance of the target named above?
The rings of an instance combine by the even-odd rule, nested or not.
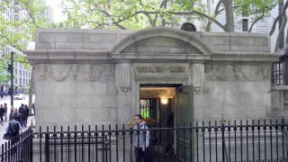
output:
[[[130,64],[122,63],[121,64],[121,91],[127,92],[130,91]]]

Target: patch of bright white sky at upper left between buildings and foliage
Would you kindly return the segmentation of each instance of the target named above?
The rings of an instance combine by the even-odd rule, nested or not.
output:
[[[60,7],[61,0],[46,0],[49,7],[53,9],[53,19],[54,23],[62,22],[66,19],[66,16],[62,14],[62,9]]]

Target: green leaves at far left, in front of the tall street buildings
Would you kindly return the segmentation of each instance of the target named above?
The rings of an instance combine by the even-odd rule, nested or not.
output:
[[[14,0],[0,1],[0,49],[5,46],[13,46],[22,51],[26,49],[28,42],[35,40],[36,28],[50,26],[50,21],[43,16],[47,9],[45,0],[18,0],[19,5],[14,4]],[[25,11],[27,16],[22,20],[7,20],[4,15],[7,10],[19,8],[19,12]],[[10,79],[10,74],[6,74],[11,55],[7,54],[0,58],[0,83],[6,83]],[[26,56],[14,55],[14,64],[22,63],[25,68],[31,68],[27,63]]]

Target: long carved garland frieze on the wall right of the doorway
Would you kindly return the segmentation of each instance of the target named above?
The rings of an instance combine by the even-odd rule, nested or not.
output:
[[[248,65],[207,65],[206,77],[208,80],[219,81],[261,81],[269,77],[269,66]]]

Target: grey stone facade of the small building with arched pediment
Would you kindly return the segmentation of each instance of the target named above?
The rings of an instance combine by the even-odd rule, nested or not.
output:
[[[42,126],[126,123],[141,84],[193,85],[194,121],[266,118],[279,58],[266,34],[171,28],[38,30],[25,53]]]

